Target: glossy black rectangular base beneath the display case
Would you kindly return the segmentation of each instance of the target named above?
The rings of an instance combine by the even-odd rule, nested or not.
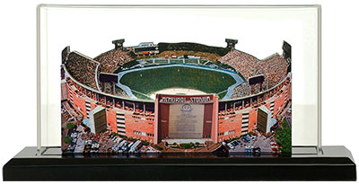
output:
[[[47,152],[36,155],[35,147],[25,147],[4,165],[4,180],[356,180],[344,146],[292,156]]]

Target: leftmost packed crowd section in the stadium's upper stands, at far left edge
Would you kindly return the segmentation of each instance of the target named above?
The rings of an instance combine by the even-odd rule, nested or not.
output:
[[[97,66],[99,66],[98,62],[75,51],[68,55],[66,62],[66,69],[74,79],[93,89],[97,89],[95,77]]]

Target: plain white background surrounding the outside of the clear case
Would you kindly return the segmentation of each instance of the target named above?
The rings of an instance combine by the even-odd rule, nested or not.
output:
[[[140,4],[145,1],[7,1],[0,6],[1,73],[0,165],[24,146],[36,145],[36,5]],[[152,4],[165,4],[153,1]],[[167,2],[169,3],[169,2]],[[171,1],[189,4],[191,1]],[[197,1],[196,4],[322,5],[322,138],[323,145],[345,145],[359,157],[356,118],[356,57],[359,4],[353,1]],[[340,3],[340,4],[339,4]],[[147,3],[148,4],[148,3]],[[240,42],[241,44],[241,42]],[[78,48],[81,51],[80,48]],[[90,56],[93,57],[93,56]],[[19,81],[19,83],[14,83]],[[20,83],[21,82],[21,83]],[[335,100],[333,100],[335,99]]]

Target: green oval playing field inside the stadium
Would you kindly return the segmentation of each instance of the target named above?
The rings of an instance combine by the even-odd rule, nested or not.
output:
[[[183,66],[153,67],[129,72],[124,74],[119,82],[133,91],[147,95],[168,88],[187,88],[217,93],[227,90],[229,86],[236,83],[230,74]],[[136,95],[135,92],[134,94]],[[143,96],[136,95],[136,97],[143,99]]]

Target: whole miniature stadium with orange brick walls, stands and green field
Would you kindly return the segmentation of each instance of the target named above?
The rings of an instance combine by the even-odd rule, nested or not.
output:
[[[125,39],[62,51],[65,153],[291,151],[291,46],[258,59],[198,43]]]

